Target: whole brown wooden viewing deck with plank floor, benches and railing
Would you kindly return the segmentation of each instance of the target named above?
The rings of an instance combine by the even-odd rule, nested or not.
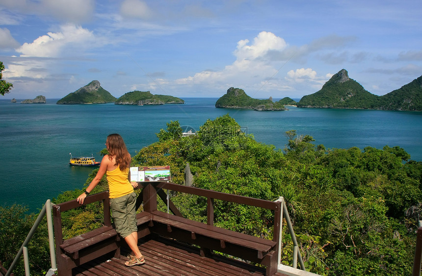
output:
[[[140,184],[142,190],[136,204],[137,207],[142,204],[143,209],[136,215],[138,246],[146,263],[125,266],[128,260],[125,256],[129,249],[111,225],[108,191],[104,191],[86,197],[83,203],[103,202],[104,226],[67,240],[63,240],[61,213],[78,208],[80,204],[72,200],[53,206],[59,276],[283,276],[277,273],[281,201],[264,201],[168,182]],[[207,199],[207,222],[184,218],[177,206],[167,199],[164,190]],[[159,199],[172,214],[158,210]],[[272,240],[214,226],[214,200],[273,212]],[[214,252],[223,252],[238,259],[223,257]]]

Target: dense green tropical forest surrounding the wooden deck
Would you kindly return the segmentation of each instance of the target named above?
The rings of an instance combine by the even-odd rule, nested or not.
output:
[[[296,130],[287,131],[285,139],[284,149],[260,143],[241,132],[228,114],[207,120],[196,135],[186,137],[179,122],[171,121],[157,133],[157,142],[136,152],[132,166],[170,165],[172,182],[184,185],[189,164],[192,186],[268,201],[283,197],[306,269],[313,273],[410,275],[422,219],[422,162],[411,160],[399,146],[327,149]],[[91,194],[106,189],[103,178]],[[64,192],[53,203],[74,200],[82,192]],[[171,201],[185,218],[206,222],[206,199],[175,193]],[[62,218],[64,238],[101,226],[98,210],[102,208],[88,204],[68,212]],[[268,239],[274,235],[274,217],[266,210],[216,201],[214,212],[215,226]],[[22,205],[0,207],[4,267],[11,264],[35,217]],[[291,266],[292,238],[284,226],[285,221],[281,259]],[[50,266],[46,222],[29,248],[31,272],[42,275]],[[24,274],[23,266],[19,263],[16,275]]]

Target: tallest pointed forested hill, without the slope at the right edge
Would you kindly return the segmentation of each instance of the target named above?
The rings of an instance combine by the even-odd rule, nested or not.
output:
[[[349,78],[347,71],[342,69],[333,75],[314,94],[304,96],[297,103],[298,107],[320,108],[377,108],[379,96],[366,91],[354,79]]]

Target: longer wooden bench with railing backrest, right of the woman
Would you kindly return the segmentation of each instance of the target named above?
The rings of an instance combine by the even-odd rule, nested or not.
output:
[[[140,182],[138,184],[143,186],[142,201],[144,203],[144,210],[151,213],[150,231],[152,233],[200,246],[201,256],[211,255],[212,251],[218,251],[264,265],[266,267],[265,275],[274,275],[277,272],[281,212],[280,202],[230,195],[168,182]],[[183,218],[176,206],[167,199],[163,189],[207,198],[208,223],[204,224]],[[158,211],[158,197],[161,198],[165,204],[168,203],[168,208],[174,215]],[[273,210],[273,240],[254,237],[213,226],[214,199]]]

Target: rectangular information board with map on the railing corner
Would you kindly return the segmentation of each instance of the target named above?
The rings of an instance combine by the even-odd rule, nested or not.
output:
[[[170,181],[170,166],[131,167],[131,181]]]

